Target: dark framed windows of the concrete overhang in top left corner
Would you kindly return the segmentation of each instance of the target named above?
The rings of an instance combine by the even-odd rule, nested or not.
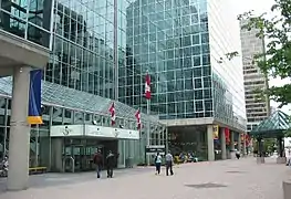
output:
[[[53,0],[1,0],[0,29],[50,48]]]

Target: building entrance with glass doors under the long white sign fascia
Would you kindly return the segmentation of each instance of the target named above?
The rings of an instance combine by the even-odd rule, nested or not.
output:
[[[139,139],[139,132],[96,125],[60,125],[51,127],[50,137],[50,170],[76,172],[95,169],[93,157],[97,149],[102,151],[103,158],[111,150],[118,157],[115,166],[125,167],[127,156],[134,154],[127,151],[126,143],[132,146],[134,140]]]

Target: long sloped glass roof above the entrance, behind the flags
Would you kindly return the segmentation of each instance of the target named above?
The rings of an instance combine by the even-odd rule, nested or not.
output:
[[[0,95],[11,97],[12,94],[12,77],[0,78]],[[108,108],[114,101],[104,98],[90,93],[76,91],[59,84],[42,82],[42,103],[45,105],[63,106],[69,109],[76,109],[81,112],[91,112],[100,115],[110,115]],[[115,102],[116,117],[136,119],[136,109]],[[158,117],[154,115],[141,115],[142,122],[157,123]]]

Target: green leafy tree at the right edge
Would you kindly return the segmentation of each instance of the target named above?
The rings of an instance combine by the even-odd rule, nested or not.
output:
[[[239,14],[238,20],[247,20],[248,22],[242,29],[257,29],[257,36],[268,41],[266,52],[257,54],[253,57],[253,63],[264,74],[291,80],[291,0],[274,0],[271,12],[276,14],[272,19],[268,19],[266,13],[256,17],[253,11],[249,11]],[[229,60],[237,55],[238,52],[226,54]],[[290,83],[269,87],[263,93],[280,103],[279,107],[291,103]]]

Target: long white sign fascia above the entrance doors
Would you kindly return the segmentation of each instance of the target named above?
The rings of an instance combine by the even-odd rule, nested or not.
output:
[[[51,126],[51,137],[139,139],[139,132],[96,125],[56,125]]]

